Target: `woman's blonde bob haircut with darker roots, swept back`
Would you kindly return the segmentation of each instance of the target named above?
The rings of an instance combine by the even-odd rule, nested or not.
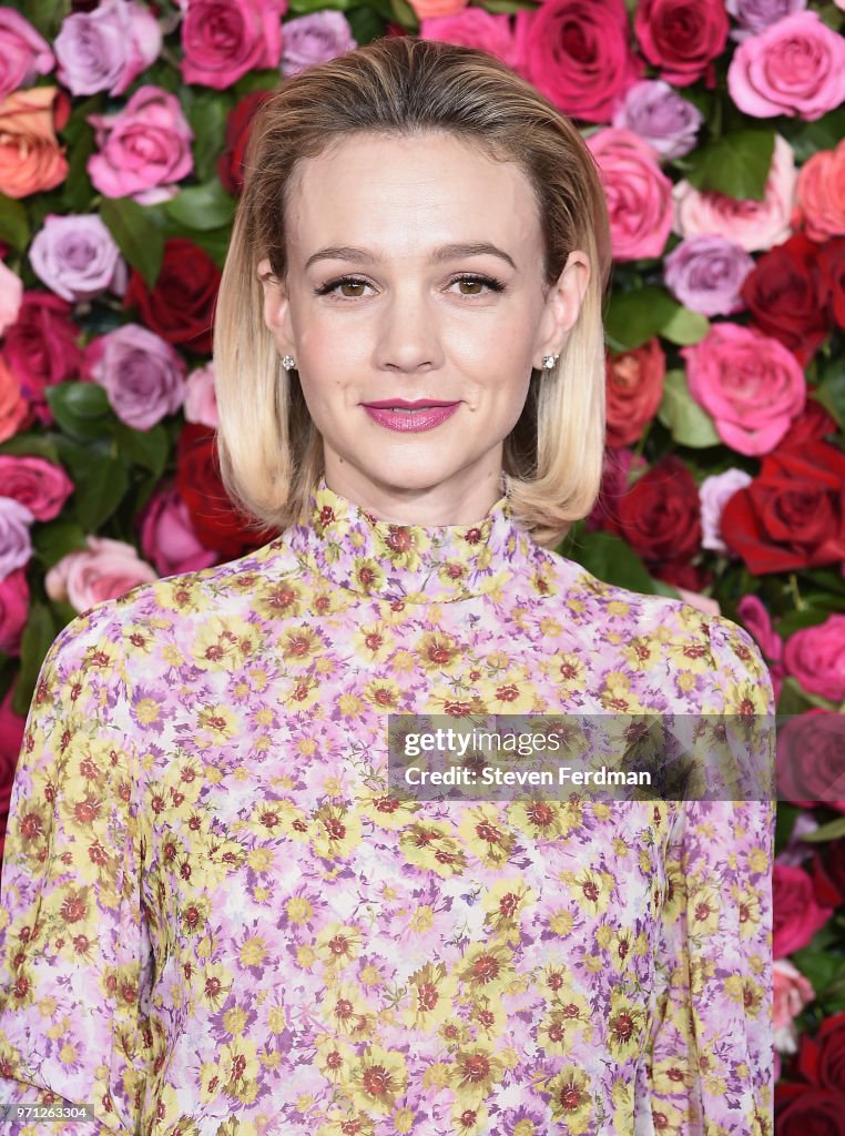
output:
[[[226,491],[248,527],[281,531],[304,518],[324,473],[323,438],[299,376],[282,366],[263,321],[257,266],[267,257],[284,282],[285,206],[296,164],[365,132],[447,132],[493,160],[518,165],[538,206],[546,293],[570,251],[589,260],[566,350],[552,370],[532,371],[522,414],[503,444],[513,519],[537,544],[554,548],[593,508],[604,456],[601,306],[611,252],[597,167],[575,126],[505,64],[417,36],[375,40],[285,80],[252,120],[214,321]]]

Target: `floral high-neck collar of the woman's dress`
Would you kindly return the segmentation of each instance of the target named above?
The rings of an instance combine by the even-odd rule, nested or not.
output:
[[[502,496],[472,525],[396,525],[326,485],[287,531],[298,558],[333,584],[391,602],[445,603],[500,588],[536,545]]]

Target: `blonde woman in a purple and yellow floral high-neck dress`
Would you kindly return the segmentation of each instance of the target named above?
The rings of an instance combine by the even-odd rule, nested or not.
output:
[[[215,365],[227,486],[279,536],[44,662],[2,1101],[143,1136],[771,1133],[769,804],[385,787],[390,715],[771,712],[743,629],[549,551],[597,493],[608,249],[577,131],[490,56],[385,39],[262,107]]]

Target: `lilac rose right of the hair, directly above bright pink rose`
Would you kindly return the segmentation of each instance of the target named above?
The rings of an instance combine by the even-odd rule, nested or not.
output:
[[[754,258],[725,236],[688,236],[663,261],[666,286],[676,300],[702,316],[730,316],[745,303],[739,290]]]

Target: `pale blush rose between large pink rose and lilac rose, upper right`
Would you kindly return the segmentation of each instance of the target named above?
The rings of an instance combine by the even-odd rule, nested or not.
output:
[[[746,252],[783,244],[792,233],[797,178],[793,149],[778,134],[762,201],[739,201],[712,191],[702,193],[689,182],[678,182],[672,191],[675,232],[679,236],[718,233]]]

